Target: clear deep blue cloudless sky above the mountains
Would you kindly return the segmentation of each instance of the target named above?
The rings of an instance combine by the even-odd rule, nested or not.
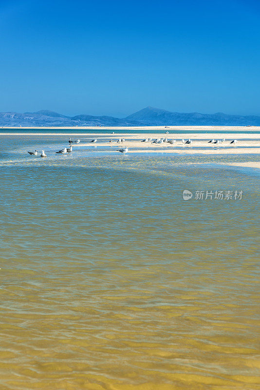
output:
[[[259,0],[1,0],[0,111],[260,115]]]

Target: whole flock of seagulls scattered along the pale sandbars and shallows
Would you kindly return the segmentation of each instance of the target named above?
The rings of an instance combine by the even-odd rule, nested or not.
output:
[[[168,133],[168,132],[167,132]],[[114,134],[114,133],[111,133],[111,134]],[[116,143],[122,143],[125,141],[125,138],[119,138]],[[143,139],[141,142],[151,142],[151,143],[170,143],[171,145],[175,144],[176,143],[176,139],[169,139],[167,137],[165,138],[156,138],[154,140],[152,140],[152,138],[145,138]],[[223,139],[211,139],[210,141],[208,141],[208,143],[213,143],[213,144],[219,144],[219,143],[223,143],[225,141],[225,138]],[[72,152],[72,149],[73,149],[73,145],[72,143],[79,143],[80,142],[80,139],[76,139],[75,141],[73,141],[71,138],[69,138],[69,144],[70,146],[66,147],[66,148],[63,148],[61,150],[59,150],[58,152],[56,152],[57,154],[62,154],[62,155],[65,155],[67,153],[71,153]],[[97,142],[97,138],[94,138],[90,141],[91,143],[95,143]],[[112,139],[110,139],[109,142],[112,142]],[[192,139],[188,138],[187,140],[185,139],[182,139],[182,143],[183,145],[191,145],[192,144]],[[233,139],[230,143],[232,144],[236,144],[238,142],[237,139]],[[117,152],[120,152],[120,153],[128,153],[128,147],[127,146],[124,146],[123,148],[121,149],[117,149],[116,150]],[[28,152],[29,155],[31,156],[37,156],[38,155],[38,151],[36,150],[35,152]],[[47,157],[47,155],[45,154],[45,151],[42,150],[41,151],[41,155],[40,157]]]

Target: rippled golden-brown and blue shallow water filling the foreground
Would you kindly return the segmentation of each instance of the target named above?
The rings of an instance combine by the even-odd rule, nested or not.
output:
[[[2,137],[0,389],[259,389],[258,155],[58,146]]]

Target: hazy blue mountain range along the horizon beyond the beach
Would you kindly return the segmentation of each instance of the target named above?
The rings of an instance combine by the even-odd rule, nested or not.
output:
[[[68,117],[54,111],[0,113],[0,126],[260,126],[260,117],[223,113],[177,113],[146,107],[125,118],[76,115]]]

